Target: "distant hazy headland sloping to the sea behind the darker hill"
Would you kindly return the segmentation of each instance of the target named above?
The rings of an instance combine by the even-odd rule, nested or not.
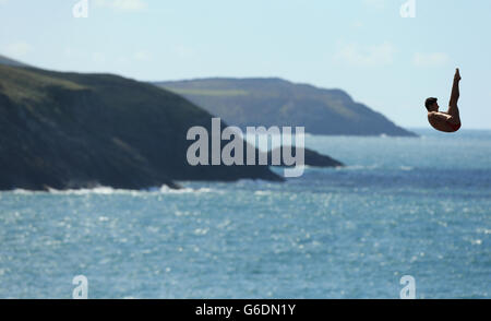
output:
[[[340,90],[282,79],[200,79],[156,84],[241,128],[303,126],[313,134],[415,135]]]

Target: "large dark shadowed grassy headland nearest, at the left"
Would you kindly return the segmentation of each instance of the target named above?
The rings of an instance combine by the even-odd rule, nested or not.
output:
[[[116,75],[0,64],[0,189],[278,179],[265,166],[189,166],[185,133],[209,128],[211,117],[176,94]]]

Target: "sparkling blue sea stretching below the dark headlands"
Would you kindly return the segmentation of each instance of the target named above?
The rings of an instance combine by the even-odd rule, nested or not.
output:
[[[415,131],[307,135],[346,166],[283,183],[0,192],[0,298],[490,298],[491,131]]]

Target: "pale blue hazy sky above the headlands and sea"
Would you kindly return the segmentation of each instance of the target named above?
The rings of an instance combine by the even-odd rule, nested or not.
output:
[[[342,88],[406,128],[446,106],[491,129],[489,0],[0,0],[0,55],[141,81],[279,76]],[[414,5],[412,5],[414,4]],[[403,11],[402,11],[403,9]]]

